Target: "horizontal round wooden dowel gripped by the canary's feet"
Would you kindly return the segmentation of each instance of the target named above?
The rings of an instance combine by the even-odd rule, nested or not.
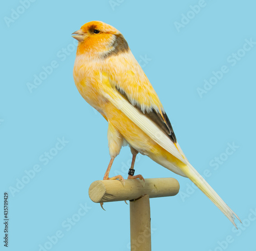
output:
[[[125,179],[125,185],[119,180],[96,180],[89,188],[92,201],[110,202],[132,200],[148,194],[150,198],[174,196],[180,185],[175,178],[148,178],[145,184],[139,179]]]

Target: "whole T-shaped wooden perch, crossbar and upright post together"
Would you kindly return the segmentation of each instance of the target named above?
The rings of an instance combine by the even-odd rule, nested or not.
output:
[[[131,250],[151,250],[150,198],[174,196],[180,185],[175,178],[96,180],[89,188],[93,202],[130,200]]]

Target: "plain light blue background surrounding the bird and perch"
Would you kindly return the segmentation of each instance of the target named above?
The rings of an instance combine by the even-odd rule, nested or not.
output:
[[[200,173],[210,171],[209,184],[244,221],[243,230],[234,232],[229,220],[203,193],[193,191],[188,179],[140,155],[137,174],[175,177],[181,187],[175,197],[151,199],[152,249],[255,251],[256,218],[251,212],[256,214],[256,46],[236,65],[227,62],[245,39],[256,41],[255,2],[205,0],[205,7],[179,32],[175,22],[181,22],[182,14],[193,17],[189,6],[198,1],[114,2],[118,5],[112,8],[108,0],[38,0],[9,27],[6,17],[21,4],[2,4],[0,197],[3,201],[4,191],[9,192],[8,250],[39,250],[57,231],[62,238],[48,245],[50,250],[129,250],[129,206],[105,203],[105,212],[88,196],[90,184],[102,179],[110,160],[107,123],[81,98],[72,76],[71,33],[88,21],[101,20],[122,32],[138,61],[151,59],[140,63],[184,153]],[[63,48],[70,50],[66,57]],[[53,60],[58,67],[30,93],[27,83]],[[229,72],[200,98],[197,88],[222,65]],[[56,156],[49,163],[40,158],[63,137],[69,143],[58,152],[52,150]],[[239,148],[227,156],[223,153],[228,143]],[[214,159],[220,155],[227,159],[214,170]],[[111,175],[119,172],[126,178],[130,161],[129,148],[123,148]],[[35,165],[40,171],[26,180],[25,171]],[[27,184],[11,192],[17,179]],[[184,201],[182,192],[190,193]],[[76,214],[84,213],[80,204],[86,204],[87,213],[78,219]],[[70,217],[77,220],[72,226],[67,225]],[[225,244],[226,238],[231,243]]]

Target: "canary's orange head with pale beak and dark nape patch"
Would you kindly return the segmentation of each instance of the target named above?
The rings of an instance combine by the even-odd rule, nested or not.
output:
[[[130,50],[121,32],[101,21],[87,22],[72,33],[72,37],[78,40],[77,54],[90,53],[106,58]]]

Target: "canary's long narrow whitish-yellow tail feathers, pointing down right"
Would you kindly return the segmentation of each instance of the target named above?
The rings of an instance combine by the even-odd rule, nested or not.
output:
[[[187,167],[182,168],[182,171],[186,176],[194,182],[194,184],[221,210],[221,212],[226,215],[226,217],[232,222],[234,226],[235,217],[242,223],[239,217],[227,206],[227,204],[222,200],[222,198],[210,187],[210,185],[204,180],[204,178],[197,172],[197,170],[190,164]]]

